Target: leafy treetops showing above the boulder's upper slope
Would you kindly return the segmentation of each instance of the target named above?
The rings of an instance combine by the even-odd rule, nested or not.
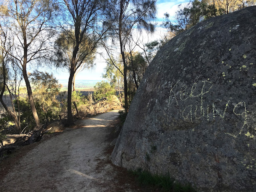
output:
[[[168,39],[170,39],[183,32],[184,30],[187,30],[198,24],[202,20],[206,20],[222,14],[228,14],[229,12],[234,12],[254,4],[255,0],[192,0],[188,3],[187,6],[182,6],[182,4],[178,6],[179,9],[176,11],[176,15],[174,16],[174,22],[170,20],[170,15],[165,13],[165,21],[161,24],[161,26],[168,30]]]

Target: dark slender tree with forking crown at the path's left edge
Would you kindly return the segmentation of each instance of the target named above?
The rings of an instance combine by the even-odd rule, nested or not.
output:
[[[68,124],[72,124],[71,93],[72,82],[83,59],[96,51],[98,42],[104,38],[107,29],[103,26],[102,13],[106,8],[106,0],[61,0],[65,14],[62,30],[73,32],[72,57],[70,60],[70,76],[68,78]],[[86,52],[79,54],[84,42],[88,41]],[[82,58],[79,58],[82,56]],[[78,60],[83,62],[78,62]]]

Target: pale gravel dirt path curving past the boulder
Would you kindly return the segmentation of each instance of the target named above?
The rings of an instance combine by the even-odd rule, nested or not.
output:
[[[117,118],[118,110],[100,114],[81,120],[81,128],[41,142],[9,171],[0,191],[142,191],[128,181],[122,169],[111,164],[106,152]]]

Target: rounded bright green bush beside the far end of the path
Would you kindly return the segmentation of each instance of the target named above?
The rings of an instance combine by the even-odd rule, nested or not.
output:
[[[116,91],[108,82],[98,82],[94,86],[93,97],[94,100],[99,100],[103,97],[110,98],[111,95],[115,95]]]

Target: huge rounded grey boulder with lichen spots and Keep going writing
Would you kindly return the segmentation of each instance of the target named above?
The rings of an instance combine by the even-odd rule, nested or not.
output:
[[[256,7],[170,40],[143,77],[112,162],[199,191],[256,191]]]

